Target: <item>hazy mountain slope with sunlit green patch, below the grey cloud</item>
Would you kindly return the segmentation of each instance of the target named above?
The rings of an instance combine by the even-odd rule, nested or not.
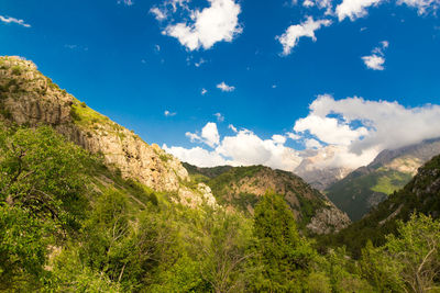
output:
[[[395,150],[383,150],[369,166],[354,170],[330,185],[324,193],[352,221],[358,221],[408,183],[417,169],[438,154],[439,138]]]

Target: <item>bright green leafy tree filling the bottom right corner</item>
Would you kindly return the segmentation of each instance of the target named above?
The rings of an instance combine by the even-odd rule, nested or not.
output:
[[[366,246],[361,272],[383,292],[438,292],[440,222],[425,215],[399,222],[398,236],[388,235],[382,247]]]

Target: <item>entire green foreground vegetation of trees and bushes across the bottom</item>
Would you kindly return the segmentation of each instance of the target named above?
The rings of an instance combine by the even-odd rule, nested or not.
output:
[[[0,127],[0,177],[1,291],[439,290],[440,224],[425,215],[394,222],[396,236],[367,243],[359,260],[344,248],[318,253],[282,195],[262,196],[253,217],[189,209],[47,126]]]

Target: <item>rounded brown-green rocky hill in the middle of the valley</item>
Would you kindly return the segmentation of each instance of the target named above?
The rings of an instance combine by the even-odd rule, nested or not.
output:
[[[282,194],[299,226],[315,234],[338,232],[350,224],[324,195],[296,174],[264,166],[198,168],[184,164],[195,181],[210,187],[217,202],[231,210],[253,214],[262,196]]]

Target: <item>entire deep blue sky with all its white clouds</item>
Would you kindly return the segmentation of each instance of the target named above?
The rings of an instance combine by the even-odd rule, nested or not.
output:
[[[0,0],[0,55],[184,161],[356,168],[440,137],[439,7]]]

